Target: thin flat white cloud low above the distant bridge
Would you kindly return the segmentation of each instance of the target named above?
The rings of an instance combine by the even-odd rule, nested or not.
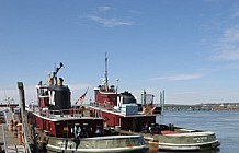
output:
[[[202,74],[171,74],[171,75],[164,75],[155,78],[151,80],[167,80],[167,81],[184,81],[184,80],[193,80],[193,79],[200,79],[202,78]]]

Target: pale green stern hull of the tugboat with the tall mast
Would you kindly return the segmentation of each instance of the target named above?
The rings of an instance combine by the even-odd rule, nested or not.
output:
[[[214,132],[155,134],[145,139],[149,145],[158,145],[158,150],[198,151],[220,145]]]

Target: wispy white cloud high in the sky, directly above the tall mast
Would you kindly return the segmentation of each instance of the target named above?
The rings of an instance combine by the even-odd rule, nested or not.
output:
[[[115,17],[107,19],[107,17],[101,17],[96,15],[86,15],[82,17],[100,23],[105,27],[125,26],[125,25],[129,26],[129,25],[135,24],[133,21],[124,20],[124,19],[115,19]]]

